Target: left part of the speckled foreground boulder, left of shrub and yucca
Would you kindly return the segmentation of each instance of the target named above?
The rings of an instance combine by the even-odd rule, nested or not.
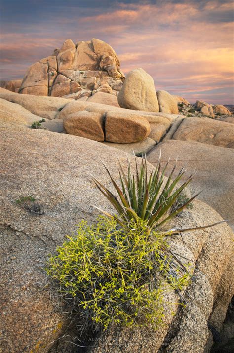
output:
[[[113,151],[122,163],[126,157],[98,142],[45,130],[4,129],[0,134],[2,349],[45,353],[69,325],[45,289],[41,264],[79,221],[96,219],[95,205],[111,211],[88,173],[106,184],[100,156],[115,177]],[[134,157],[130,162],[134,167]],[[44,208],[43,215],[15,202],[29,195]]]

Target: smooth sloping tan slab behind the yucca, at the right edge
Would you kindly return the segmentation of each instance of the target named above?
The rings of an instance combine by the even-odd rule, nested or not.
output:
[[[190,187],[195,193],[202,191],[198,198],[210,204],[224,219],[229,220],[230,225],[234,226],[233,149],[194,141],[167,140],[157,145],[149,153],[147,160],[156,165],[160,153],[164,162],[170,157],[170,165],[174,164],[179,157],[178,169],[186,165],[187,170],[191,172],[196,168],[197,172]],[[188,173],[183,180],[186,177]]]

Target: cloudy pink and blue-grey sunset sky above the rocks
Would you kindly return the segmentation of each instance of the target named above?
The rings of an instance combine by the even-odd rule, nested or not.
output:
[[[232,0],[0,0],[0,33],[2,80],[23,78],[66,39],[98,38],[156,90],[234,104]]]

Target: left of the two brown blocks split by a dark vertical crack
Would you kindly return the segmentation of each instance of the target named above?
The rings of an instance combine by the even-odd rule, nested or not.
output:
[[[99,142],[104,141],[103,125],[102,114],[87,111],[70,114],[63,120],[64,130],[68,134]]]

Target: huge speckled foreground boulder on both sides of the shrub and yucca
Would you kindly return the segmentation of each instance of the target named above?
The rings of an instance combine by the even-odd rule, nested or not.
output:
[[[73,341],[74,336],[69,331],[68,315],[56,309],[59,299],[52,298],[49,287],[45,287],[42,265],[81,219],[95,220],[98,212],[94,206],[111,212],[88,174],[92,172],[106,185],[109,178],[100,166],[100,156],[115,178],[118,178],[118,164],[113,156],[117,155],[124,165],[126,157],[117,149],[77,136],[25,128],[0,130],[4,166],[0,180],[3,351],[59,352],[57,344],[64,349],[65,341]],[[134,158],[129,156],[129,160],[134,167]],[[149,171],[153,168],[150,164],[148,167]],[[33,196],[37,207],[34,202],[27,207],[23,202],[16,203],[25,196]],[[202,226],[219,220],[221,217],[211,207],[194,201],[193,209],[183,212],[173,226]],[[183,347],[188,352],[203,349],[209,337],[207,320],[217,299],[216,288],[223,283],[229,264],[231,237],[232,231],[226,224],[184,234],[183,241],[179,236],[173,237],[175,252],[196,263],[198,269],[188,288],[186,309],[178,311],[173,306],[177,312],[174,319],[179,320],[174,340],[175,326],[169,326],[173,319],[171,307],[166,307],[165,325],[157,332],[150,327],[118,330],[97,339],[92,344],[93,352],[149,352],[152,347],[157,352],[163,346],[174,347],[178,352]],[[178,300],[175,293],[168,295],[168,299]],[[226,301],[230,300],[228,297]],[[76,335],[79,339],[78,332]],[[84,345],[80,340],[78,344]],[[65,351],[73,352],[72,347]]]

